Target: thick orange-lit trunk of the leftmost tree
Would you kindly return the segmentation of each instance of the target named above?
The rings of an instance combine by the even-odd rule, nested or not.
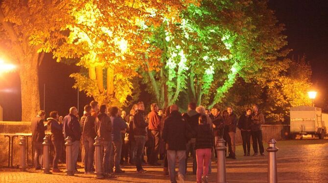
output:
[[[40,110],[38,54],[26,58],[20,64],[22,92],[22,121],[30,121]]]

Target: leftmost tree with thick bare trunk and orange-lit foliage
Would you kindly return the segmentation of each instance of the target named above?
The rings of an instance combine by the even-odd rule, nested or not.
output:
[[[1,0],[0,53],[18,66],[22,120],[40,110],[38,68],[70,22],[70,0]]]

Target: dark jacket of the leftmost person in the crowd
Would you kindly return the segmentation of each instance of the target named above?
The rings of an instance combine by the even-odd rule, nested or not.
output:
[[[43,142],[43,138],[46,137],[45,130],[47,130],[47,126],[44,125],[43,121],[44,120],[39,116],[31,120],[33,142]]]

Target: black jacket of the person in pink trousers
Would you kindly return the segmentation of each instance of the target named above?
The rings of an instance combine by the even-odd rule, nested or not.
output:
[[[213,144],[213,133],[209,124],[198,125],[195,149],[211,149]]]

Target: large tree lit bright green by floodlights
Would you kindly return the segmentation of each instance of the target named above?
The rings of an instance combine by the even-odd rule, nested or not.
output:
[[[157,102],[178,101],[213,106],[221,102],[237,77],[249,80],[272,60],[285,56],[286,45],[266,1],[203,0],[166,21],[152,43],[161,47],[162,68],[146,70],[144,82]],[[147,76],[147,77],[146,77]]]

